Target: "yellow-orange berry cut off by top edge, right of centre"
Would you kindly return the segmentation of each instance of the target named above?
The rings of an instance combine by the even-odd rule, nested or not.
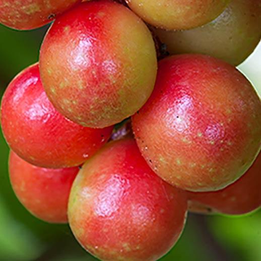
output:
[[[190,29],[218,17],[230,0],[126,0],[147,23],[169,30]]]

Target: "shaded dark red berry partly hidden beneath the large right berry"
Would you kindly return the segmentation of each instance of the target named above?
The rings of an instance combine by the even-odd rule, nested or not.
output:
[[[261,154],[249,170],[235,183],[214,192],[188,192],[190,211],[242,215],[261,206]]]

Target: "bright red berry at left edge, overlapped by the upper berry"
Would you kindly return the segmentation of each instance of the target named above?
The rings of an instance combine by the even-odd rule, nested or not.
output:
[[[37,63],[9,84],[1,105],[1,124],[11,149],[45,168],[79,166],[100,149],[113,128],[83,127],[57,112],[43,90]]]

